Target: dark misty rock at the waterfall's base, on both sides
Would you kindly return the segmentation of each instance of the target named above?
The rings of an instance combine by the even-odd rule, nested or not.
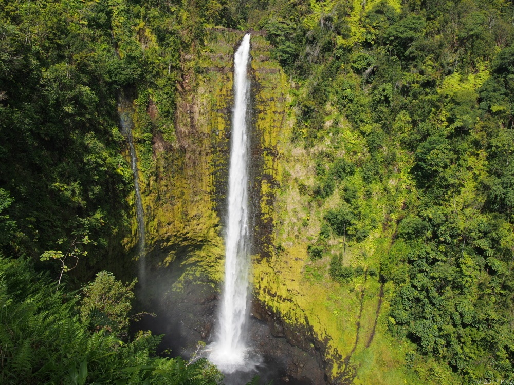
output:
[[[160,355],[182,356],[189,360],[198,341],[215,338],[216,318],[221,298],[212,285],[197,281],[187,284],[185,290],[173,291],[170,286],[180,281],[187,270],[181,262],[191,253],[190,248],[180,249],[176,260],[167,268],[150,269],[144,289],[137,294],[136,311],[152,312],[131,328],[133,335],[139,330],[151,330],[153,335],[163,335],[157,349]],[[162,258],[167,255],[162,254]],[[151,277],[151,279],[150,279]],[[255,375],[260,385],[324,385],[323,372],[316,360],[302,349],[291,345],[284,337],[276,337],[269,325],[250,313],[247,323],[248,351],[261,357],[260,364],[251,369],[225,373],[225,385],[245,385]],[[209,358],[208,352],[201,357]],[[296,366],[302,368],[298,373]],[[307,378],[308,376],[308,378]],[[319,379],[317,381],[317,379]]]

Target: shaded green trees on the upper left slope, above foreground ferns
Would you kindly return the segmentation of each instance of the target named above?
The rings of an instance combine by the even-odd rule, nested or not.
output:
[[[134,107],[139,169],[155,172],[152,138],[175,141],[182,57],[201,50],[205,27],[239,17],[223,1],[0,2],[0,186],[16,223],[6,255],[58,241],[65,253],[77,234],[96,242],[89,266],[124,253],[133,176],[118,103]]]

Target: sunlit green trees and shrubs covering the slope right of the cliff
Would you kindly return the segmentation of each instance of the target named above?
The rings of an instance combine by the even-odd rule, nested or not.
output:
[[[410,343],[398,358],[417,381],[509,378],[511,4],[277,0],[248,19],[296,83],[289,145],[315,173],[283,194],[307,196],[306,277],[351,288],[373,271],[391,290],[383,332]]]

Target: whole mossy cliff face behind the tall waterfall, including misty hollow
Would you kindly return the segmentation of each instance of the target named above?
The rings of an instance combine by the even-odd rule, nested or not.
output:
[[[185,58],[176,140],[154,136],[151,167],[140,172],[151,277],[144,298],[161,318],[157,332],[167,333],[176,353],[208,340],[215,321],[223,277],[232,57],[242,37],[239,31],[211,30],[201,56]],[[314,357],[330,382],[390,383],[388,372],[397,375],[402,365],[389,350],[394,342],[381,333],[387,327],[387,287],[364,275],[354,287],[342,288],[329,283],[326,263],[321,276],[313,269],[306,249],[322,215],[300,194],[299,186],[314,177],[314,155],[291,143],[290,92],[297,86],[270,59],[264,36],[253,34],[251,44],[253,316]],[[308,374],[309,366],[303,368],[297,364],[295,375]]]

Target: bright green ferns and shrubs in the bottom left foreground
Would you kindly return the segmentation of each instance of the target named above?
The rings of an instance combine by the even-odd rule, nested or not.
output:
[[[153,357],[160,337],[150,332],[124,340],[133,285],[100,273],[80,305],[30,261],[0,258],[0,381],[216,385],[221,375],[205,359]]]

